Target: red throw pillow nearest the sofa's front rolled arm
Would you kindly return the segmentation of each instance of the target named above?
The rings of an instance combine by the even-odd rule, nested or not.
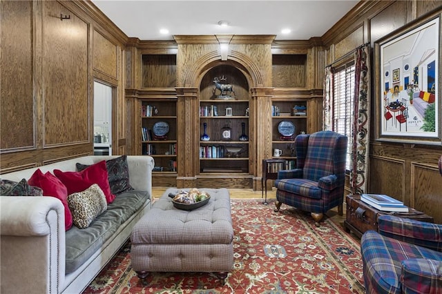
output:
[[[39,168],[28,179],[28,184],[41,188],[44,196],[52,196],[61,200],[64,206],[64,227],[68,231],[72,226],[73,218],[69,210],[66,186],[55,175],[50,172],[44,174]]]

